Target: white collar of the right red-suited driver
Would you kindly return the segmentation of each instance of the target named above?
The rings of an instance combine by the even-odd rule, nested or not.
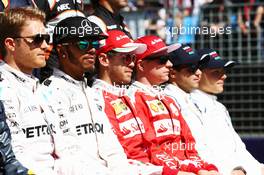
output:
[[[133,82],[131,88],[136,88],[152,96],[154,95],[158,99],[162,99],[162,97],[165,95],[161,86],[147,86],[143,83],[140,83],[139,81]]]

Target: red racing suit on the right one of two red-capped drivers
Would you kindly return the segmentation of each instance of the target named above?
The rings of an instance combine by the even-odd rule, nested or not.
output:
[[[136,110],[147,131],[144,138],[152,143],[149,148],[151,163],[193,173],[217,171],[216,166],[198,156],[195,139],[170,97],[156,88],[134,82],[124,98],[132,102],[130,108]]]

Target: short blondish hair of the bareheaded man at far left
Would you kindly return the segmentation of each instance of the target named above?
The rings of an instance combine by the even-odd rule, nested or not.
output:
[[[5,39],[19,36],[28,20],[40,20],[45,23],[45,13],[32,7],[14,8],[0,13],[0,54],[2,57],[6,56]]]

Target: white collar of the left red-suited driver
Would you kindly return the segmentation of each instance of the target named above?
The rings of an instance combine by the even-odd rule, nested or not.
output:
[[[96,79],[94,82],[93,82],[93,85],[92,87],[94,89],[99,89],[99,90],[104,90],[106,92],[109,92],[111,94],[114,94],[116,96],[124,96],[125,94],[125,91],[126,91],[126,86],[113,86],[103,80],[100,80],[100,79]]]

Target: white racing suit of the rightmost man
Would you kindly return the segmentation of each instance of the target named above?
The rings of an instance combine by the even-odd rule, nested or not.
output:
[[[194,90],[191,98],[202,113],[203,127],[206,131],[203,137],[207,138],[207,149],[213,151],[213,163],[220,172],[228,175],[233,168],[242,166],[247,175],[260,175],[261,164],[247,151],[234,130],[226,107],[217,101],[216,96],[200,90]],[[208,159],[203,154],[200,156]]]

